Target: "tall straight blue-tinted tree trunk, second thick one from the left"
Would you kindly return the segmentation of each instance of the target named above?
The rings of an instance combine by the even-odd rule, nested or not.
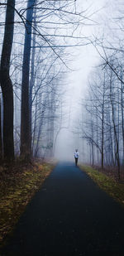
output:
[[[31,25],[35,0],[28,0],[26,9],[25,45],[21,83],[21,157],[28,161],[31,157],[29,72],[31,56]]]

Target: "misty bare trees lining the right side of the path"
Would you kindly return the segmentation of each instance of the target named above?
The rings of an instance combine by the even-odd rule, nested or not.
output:
[[[106,30],[94,36],[98,65],[88,75],[74,133],[81,161],[115,170],[119,180],[124,167],[124,18],[121,3],[111,7],[117,17],[111,14],[109,26],[104,22]]]

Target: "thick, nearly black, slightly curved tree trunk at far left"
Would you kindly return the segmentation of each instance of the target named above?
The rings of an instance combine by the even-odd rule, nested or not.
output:
[[[10,58],[14,30],[15,0],[7,0],[7,12],[1,58],[1,87],[3,97],[3,157],[6,161],[14,158],[13,140],[13,89],[10,79]]]

